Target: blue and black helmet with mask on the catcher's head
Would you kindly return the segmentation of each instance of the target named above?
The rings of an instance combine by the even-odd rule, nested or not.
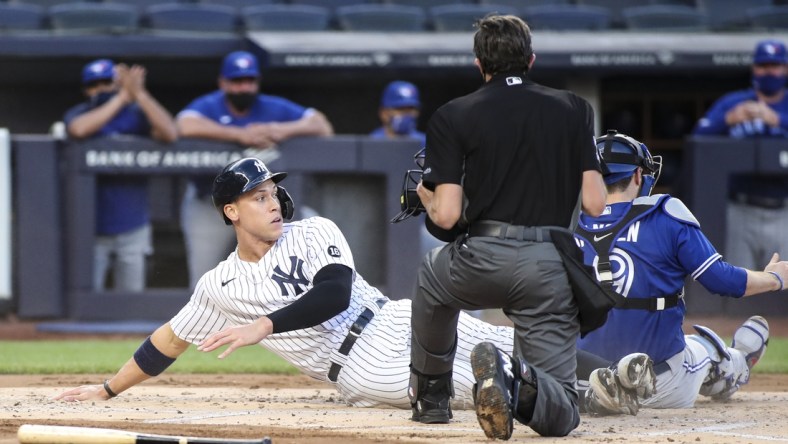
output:
[[[597,137],[596,149],[605,164],[603,167],[606,184],[618,182],[643,169],[643,185],[639,196],[648,196],[662,171],[662,156],[652,156],[645,144],[616,130]]]

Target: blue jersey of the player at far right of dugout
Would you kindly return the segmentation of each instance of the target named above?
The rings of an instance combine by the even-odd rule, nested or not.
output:
[[[745,121],[733,126],[725,123],[725,114],[736,105],[746,101],[758,101],[754,89],[734,91],[722,96],[714,102],[709,111],[698,121],[693,134],[701,136],[721,135],[739,139],[748,137],[788,137],[788,94],[782,100],[770,103],[771,107],[780,115],[780,126],[771,127],[763,120],[755,119]]]

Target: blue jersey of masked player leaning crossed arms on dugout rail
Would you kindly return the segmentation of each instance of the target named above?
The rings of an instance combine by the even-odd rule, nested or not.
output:
[[[282,97],[259,94],[249,111],[238,116],[230,112],[224,92],[200,96],[186,106],[178,117],[199,115],[222,125],[246,126],[250,123],[292,122],[306,116],[307,108]]]

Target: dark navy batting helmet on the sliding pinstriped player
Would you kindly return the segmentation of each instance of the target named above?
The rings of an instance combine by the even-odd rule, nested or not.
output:
[[[287,173],[274,173],[265,166],[262,160],[246,157],[224,167],[221,173],[213,180],[213,206],[219,210],[224,218],[224,223],[232,222],[224,215],[224,206],[234,202],[238,196],[253,190],[268,179],[279,183],[287,177]],[[293,199],[283,187],[277,187],[276,197],[282,206],[282,217],[285,220],[293,218]]]

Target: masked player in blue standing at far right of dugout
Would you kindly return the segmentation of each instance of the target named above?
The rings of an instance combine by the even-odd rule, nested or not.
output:
[[[752,88],[726,94],[698,122],[698,136],[788,137],[788,54],[785,44],[755,46]],[[732,175],[728,184],[725,256],[743,267],[762,268],[772,252],[788,255],[788,177]]]

